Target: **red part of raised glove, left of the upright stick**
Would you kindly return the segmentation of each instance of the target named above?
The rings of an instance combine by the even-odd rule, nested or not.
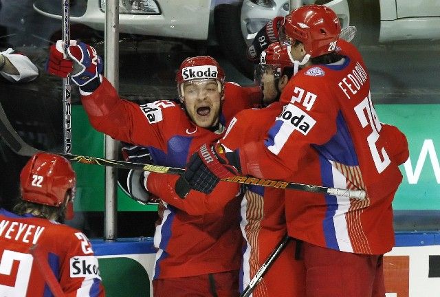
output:
[[[71,41],[76,44],[76,41]],[[49,74],[66,78],[74,70],[74,63],[67,60],[63,50],[63,41],[56,41],[55,45],[50,46],[49,60],[45,65],[45,70]]]

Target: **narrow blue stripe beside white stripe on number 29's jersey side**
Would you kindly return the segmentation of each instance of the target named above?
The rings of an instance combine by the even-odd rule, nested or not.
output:
[[[326,186],[333,186],[333,174],[331,164],[322,155],[319,156],[322,184]],[[324,230],[325,244],[327,248],[333,250],[339,250],[338,241],[336,241],[336,230],[333,223],[333,216],[338,210],[338,201],[336,196],[325,195],[325,202],[327,203],[327,210],[325,212],[325,218],[322,220],[322,230]]]

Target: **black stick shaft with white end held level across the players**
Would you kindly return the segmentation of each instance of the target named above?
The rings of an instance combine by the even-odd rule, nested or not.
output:
[[[101,166],[110,166],[124,169],[135,169],[135,170],[144,170],[155,173],[168,173],[173,175],[182,175],[185,170],[183,168],[175,168],[168,166],[159,166],[153,164],[141,164],[141,163],[133,163],[133,162],[125,162],[114,159],[104,159],[100,157],[88,157],[83,155],[72,155],[65,153],[57,153],[69,159],[72,162],[77,162],[81,164],[94,164]],[[303,190],[307,192],[320,192],[329,195],[338,195],[344,197],[350,197],[354,199],[365,199],[366,192],[364,190],[348,190],[342,188],[329,188],[325,186],[314,186],[307,184],[298,184],[289,181],[276,181],[272,179],[259,179],[256,177],[244,177],[237,175],[235,177],[222,179],[223,181],[230,181],[239,184],[250,184],[255,186],[265,186],[269,188],[285,188],[289,190]]]

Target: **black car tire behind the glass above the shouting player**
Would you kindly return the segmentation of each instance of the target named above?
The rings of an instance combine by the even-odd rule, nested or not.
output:
[[[217,41],[228,60],[247,78],[253,79],[254,65],[248,61],[248,46],[243,40],[240,27],[241,3],[220,4],[214,10]]]

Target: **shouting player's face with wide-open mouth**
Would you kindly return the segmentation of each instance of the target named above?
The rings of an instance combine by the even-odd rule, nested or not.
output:
[[[184,104],[192,122],[209,128],[219,122],[221,94],[217,80],[184,83]]]

